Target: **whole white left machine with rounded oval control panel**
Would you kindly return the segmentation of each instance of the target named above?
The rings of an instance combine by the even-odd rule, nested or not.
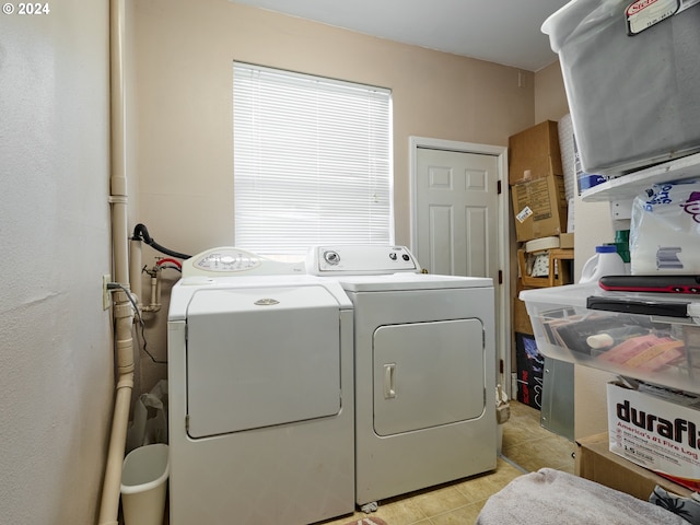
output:
[[[223,247],[168,314],[170,523],[308,524],[354,509],[352,304],[337,282]]]

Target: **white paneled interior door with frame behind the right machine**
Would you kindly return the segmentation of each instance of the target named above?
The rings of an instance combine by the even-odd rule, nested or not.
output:
[[[506,148],[410,138],[411,250],[431,273],[490,277],[495,291],[497,382],[510,390]],[[505,186],[508,189],[508,186]],[[502,282],[499,282],[502,281]]]

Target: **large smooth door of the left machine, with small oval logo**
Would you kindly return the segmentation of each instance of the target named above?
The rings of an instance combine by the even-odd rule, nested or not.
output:
[[[191,438],[340,410],[339,307],[323,287],[197,292],[186,359]]]

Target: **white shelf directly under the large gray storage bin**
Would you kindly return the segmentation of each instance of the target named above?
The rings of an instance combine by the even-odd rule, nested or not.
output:
[[[584,202],[611,202],[633,199],[652,184],[700,178],[700,153],[612,178],[581,194]]]

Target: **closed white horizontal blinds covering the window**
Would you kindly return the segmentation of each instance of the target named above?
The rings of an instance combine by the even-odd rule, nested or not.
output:
[[[390,244],[390,92],[234,62],[235,245]]]

